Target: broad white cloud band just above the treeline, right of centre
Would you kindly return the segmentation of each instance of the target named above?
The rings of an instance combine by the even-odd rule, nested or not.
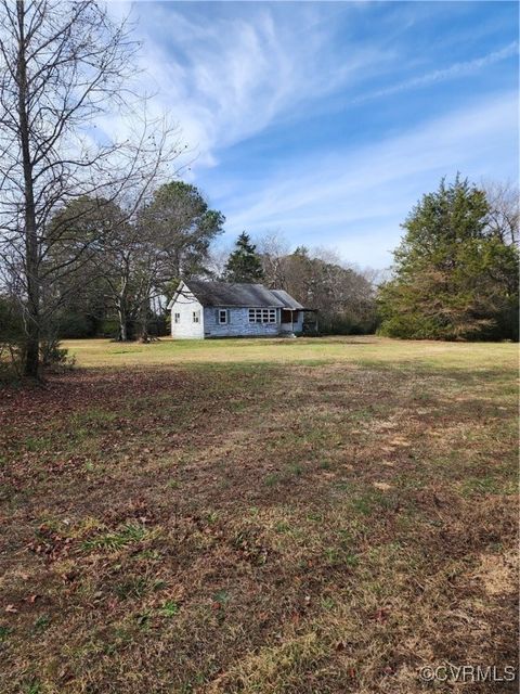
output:
[[[328,243],[347,259],[384,267],[411,206],[442,176],[516,175],[516,94],[429,121],[356,151],[298,160],[243,196],[223,201],[227,230],[281,229],[298,243]],[[497,174],[498,172],[498,174]]]

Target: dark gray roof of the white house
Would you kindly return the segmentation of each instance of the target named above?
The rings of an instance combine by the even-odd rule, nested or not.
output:
[[[231,284],[187,280],[185,283],[203,306],[242,306],[250,308],[303,308],[287,292],[268,290],[263,284]]]

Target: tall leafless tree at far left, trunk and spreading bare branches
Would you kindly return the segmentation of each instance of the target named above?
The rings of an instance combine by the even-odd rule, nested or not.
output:
[[[2,0],[0,27],[0,254],[21,271],[25,373],[37,377],[43,324],[63,298],[47,292],[43,305],[43,287],[63,286],[96,243],[76,239],[72,256],[51,262],[70,228],[49,234],[51,218],[79,197],[118,201],[131,218],[179,147],[174,128],[145,115],[123,140],[96,134],[101,116],[145,105],[129,89],[139,47],[127,20],[93,0]]]

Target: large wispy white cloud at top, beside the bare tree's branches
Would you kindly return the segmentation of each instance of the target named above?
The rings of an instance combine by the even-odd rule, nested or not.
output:
[[[316,5],[300,9],[297,27],[269,4],[249,7],[247,16],[202,21],[173,3],[136,5],[144,86],[156,92],[156,112],[180,124],[198,167],[214,166],[219,150],[376,72],[389,57],[374,47],[333,50],[334,14]],[[342,5],[336,14],[351,10]]]

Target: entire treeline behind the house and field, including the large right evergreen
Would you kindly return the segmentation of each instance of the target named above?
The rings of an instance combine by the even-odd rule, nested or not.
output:
[[[44,230],[40,282],[42,363],[64,358],[60,340],[166,335],[179,280],[261,282],[318,311],[322,334],[379,332],[401,338],[518,339],[518,196],[457,177],[426,194],[403,223],[390,279],[349,267],[333,250],[243,232],[214,249],[225,218],[198,189],[165,183],[133,215],[114,201],[79,197]],[[62,270],[64,269],[64,270]],[[27,329],[17,275],[4,272],[0,349],[23,359]],[[47,281],[46,281],[47,280]],[[2,355],[0,354],[0,357]]]

